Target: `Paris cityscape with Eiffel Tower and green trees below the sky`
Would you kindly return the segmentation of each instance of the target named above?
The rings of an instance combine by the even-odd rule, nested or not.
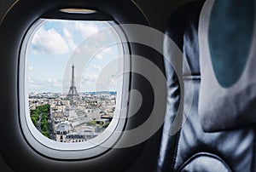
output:
[[[74,65],[68,94],[29,93],[32,123],[42,135],[64,143],[83,142],[100,135],[112,121],[115,91],[78,93]]]

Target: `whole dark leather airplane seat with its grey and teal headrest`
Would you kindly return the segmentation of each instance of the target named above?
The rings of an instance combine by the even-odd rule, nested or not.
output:
[[[170,17],[163,43],[166,119],[156,171],[256,170],[254,9],[254,0],[193,1]]]

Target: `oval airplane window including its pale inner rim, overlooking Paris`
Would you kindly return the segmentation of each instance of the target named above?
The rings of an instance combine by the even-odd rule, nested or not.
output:
[[[124,46],[114,24],[42,19],[27,33],[21,125],[40,144],[84,150],[113,135],[125,81]]]

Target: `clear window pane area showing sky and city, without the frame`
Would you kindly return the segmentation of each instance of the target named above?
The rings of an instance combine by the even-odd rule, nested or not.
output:
[[[108,78],[113,80],[111,87],[96,88],[102,68],[120,55],[119,43],[108,46],[108,39],[115,39],[116,33],[97,35],[108,26],[106,21],[44,20],[31,37],[26,48],[28,113],[34,127],[45,137],[61,142],[79,137],[90,140],[111,123],[116,106],[117,63],[113,63]],[[98,45],[90,43],[88,37],[100,37],[97,43],[103,49],[97,49]],[[94,49],[96,54],[88,53]],[[88,64],[78,69],[81,61],[75,55],[94,56],[84,57]],[[65,72],[69,75],[65,76]]]

